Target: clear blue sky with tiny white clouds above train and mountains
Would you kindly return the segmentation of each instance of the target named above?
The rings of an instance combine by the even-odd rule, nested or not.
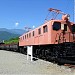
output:
[[[70,14],[74,21],[74,0],[0,0],[0,28],[36,28],[45,22],[49,8]]]

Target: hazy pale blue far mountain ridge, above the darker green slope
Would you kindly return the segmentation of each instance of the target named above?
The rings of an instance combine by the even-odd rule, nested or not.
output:
[[[9,32],[9,33],[19,34],[19,35],[22,35],[23,33],[26,32],[23,29],[6,29],[6,28],[0,28],[0,31],[6,31],[6,32]]]

